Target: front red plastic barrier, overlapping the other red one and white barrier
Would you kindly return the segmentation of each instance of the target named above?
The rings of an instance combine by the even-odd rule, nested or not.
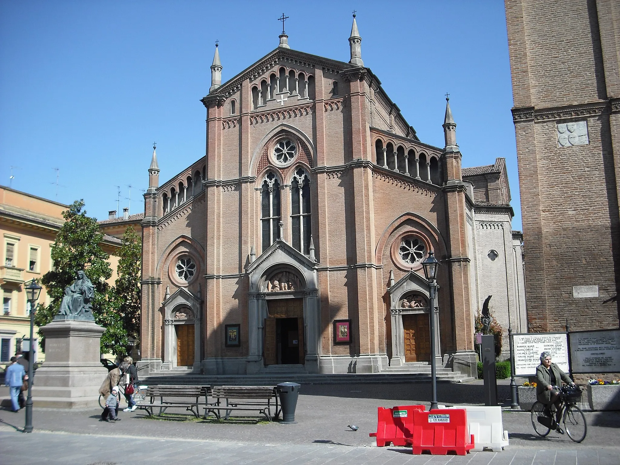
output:
[[[467,410],[436,409],[414,412],[412,451],[445,455],[453,451],[465,455],[474,448],[474,435],[467,438]]]

